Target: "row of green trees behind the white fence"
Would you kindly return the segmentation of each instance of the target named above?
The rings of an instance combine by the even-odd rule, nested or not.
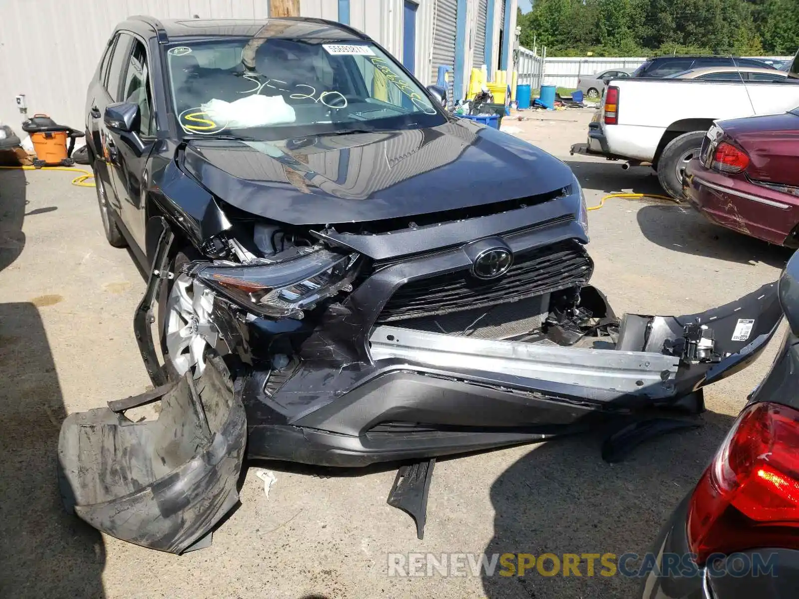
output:
[[[547,53],[794,54],[799,0],[535,0],[521,44]]]

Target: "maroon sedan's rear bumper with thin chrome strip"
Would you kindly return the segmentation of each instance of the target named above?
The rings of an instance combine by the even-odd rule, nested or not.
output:
[[[796,246],[792,235],[799,223],[799,198],[729,177],[690,161],[683,194],[708,220],[771,244]]]

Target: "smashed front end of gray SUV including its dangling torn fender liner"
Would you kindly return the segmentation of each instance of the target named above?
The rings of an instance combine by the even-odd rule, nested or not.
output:
[[[701,314],[618,319],[589,284],[576,180],[410,222],[224,216],[204,257],[175,272],[161,220],[134,322],[161,387],[70,415],[59,442],[69,510],[173,553],[205,546],[237,502],[245,445],[252,458],[320,466],[415,462],[389,503],[421,537],[436,456],[698,411],[702,386],[749,363],[781,319],[776,285]],[[172,280],[195,286],[208,321],[192,317],[184,333],[209,350],[169,383],[150,323]],[[157,418],[128,414],[153,401]]]

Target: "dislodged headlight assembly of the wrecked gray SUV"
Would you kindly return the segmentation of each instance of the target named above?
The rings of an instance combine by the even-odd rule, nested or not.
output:
[[[357,254],[299,248],[296,257],[264,264],[212,264],[196,276],[245,310],[272,318],[304,317],[304,310],[339,292],[352,291]]]

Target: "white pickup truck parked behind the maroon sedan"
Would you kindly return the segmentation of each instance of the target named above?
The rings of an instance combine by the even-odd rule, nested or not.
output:
[[[790,77],[779,83],[614,79],[588,126],[588,143],[572,145],[571,153],[623,160],[623,168],[651,165],[666,192],[679,198],[682,173],[698,157],[714,121],[783,113],[797,106],[799,79]]]

